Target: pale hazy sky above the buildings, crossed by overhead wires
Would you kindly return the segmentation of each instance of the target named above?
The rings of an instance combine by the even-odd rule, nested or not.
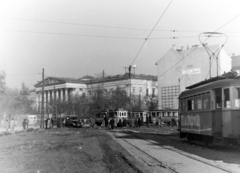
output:
[[[239,0],[0,0],[0,71],[8,87],[30,89],[43,68],[45,77],[76,79],[124,74],[129,65],[157,75],[155,63],[173,44],[191,47],[214,31],[223,35],[208,44],[227,39],[224,50],[240,55],[239,7]]]

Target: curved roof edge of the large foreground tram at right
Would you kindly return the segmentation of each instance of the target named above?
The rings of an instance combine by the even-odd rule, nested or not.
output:
[[[240,86],[240,78],[237,77],[235,79],[220,79],[217,81],[213,81],[213,82],[209,82],[206,84],[202,84],[199,86],[196,86],[192,89],[183,91],[180,95],[179,98],[181,97],[188,97],[191,95],[195,95],[195,94],[200,94],[203,92],[207,92],[211,89],[216,89],[216,88],[222,88],[222,87],[227,87],[227,86],[233,86],[233,85],[237,85]]]

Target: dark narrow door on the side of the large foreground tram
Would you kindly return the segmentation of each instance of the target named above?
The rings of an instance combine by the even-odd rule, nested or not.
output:
[[[215,89],[215,111],[213,112],[212,131],[216,137],[222,136],[222,88]]]

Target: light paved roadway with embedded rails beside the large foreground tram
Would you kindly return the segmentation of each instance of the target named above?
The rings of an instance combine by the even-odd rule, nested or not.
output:
[[[137,131],[133,131],[138,133]],[[140,139],[134,133],[112,132],[111,135],[130,153],[151,167],[153,172],[226,173],[240,172],[239,165],[217,163],[196,155],[178,151],[153,140]],[[146,134],[144,134],[146,135]],[[166,140],[166,139],[165,139]],[[219,167],[219,168],[218,168]]]

